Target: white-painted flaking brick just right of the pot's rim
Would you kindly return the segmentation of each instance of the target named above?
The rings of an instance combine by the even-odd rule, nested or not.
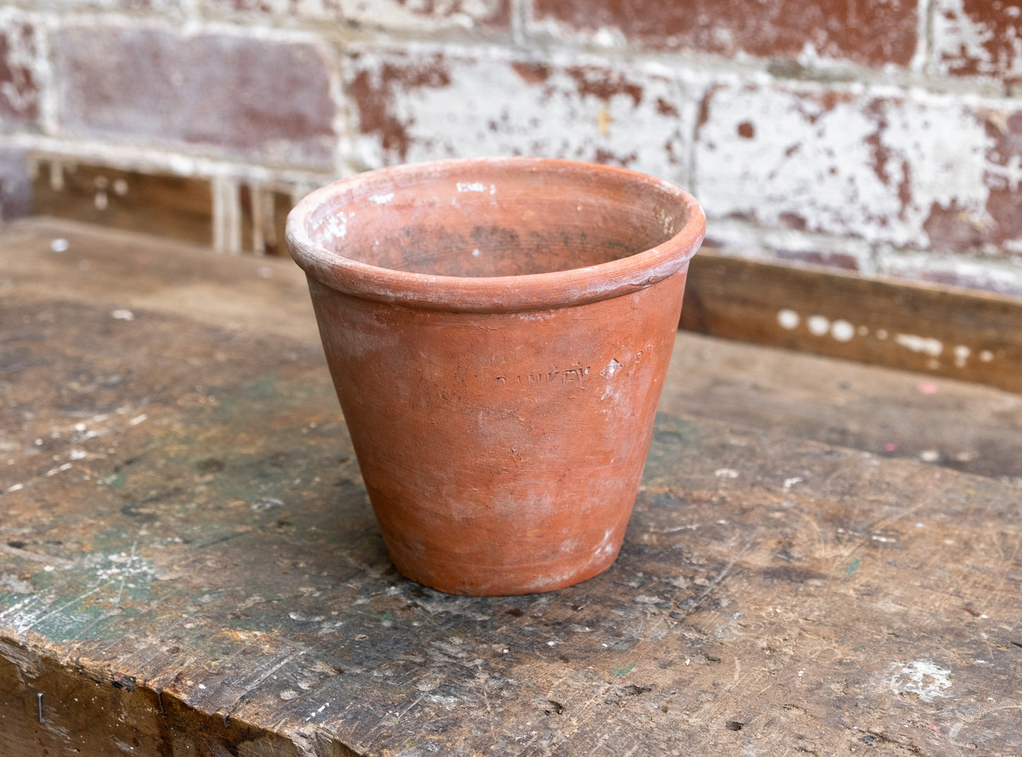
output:
[[[925,248],[936,204],[982,217],[989,137],[944,97],[724,88],[696,144],[707,215]]]

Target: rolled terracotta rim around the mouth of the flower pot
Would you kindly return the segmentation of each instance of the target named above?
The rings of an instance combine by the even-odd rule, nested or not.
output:
[[[473,169],[493,172],[596,172],[603,178],[672,195],[686,213],[685,225],[669,239],[635,255],[597,265],[518,276],[446,276],[411,273],[363,263],[331,252],[309,229],[314,213],[338,195],[369,198],[378,188],[413,184]],[[306,273],[331,288],[376,302],[448,312],[513,313],[586,305],[646,288],[681,270],[695,255],[706,229],[699,203],[668,181],[615,166],[556,158],[474,158],[402,164],[341,179],[315,189],[287,217],[287,248]]]

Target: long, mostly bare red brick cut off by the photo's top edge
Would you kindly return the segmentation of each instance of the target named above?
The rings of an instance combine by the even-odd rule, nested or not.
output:
[[[917,45],[917,0],[533,0],[533,21],[602,30],[655,49],[732,57],[819,55],[866,65],[907,65]]]

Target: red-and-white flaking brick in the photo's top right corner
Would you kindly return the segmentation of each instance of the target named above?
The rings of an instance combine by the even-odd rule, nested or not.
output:
[[[1022,8],[1003,0],[934,0],[933,55],[942,74],[1022,81]]]

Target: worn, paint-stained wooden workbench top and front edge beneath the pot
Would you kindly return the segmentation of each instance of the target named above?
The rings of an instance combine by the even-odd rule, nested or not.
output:
[[[5,755],[1022,751],[1022,398],[680,335],[614,566],[448,596],[387,563],[304,285],[0,235]]]

